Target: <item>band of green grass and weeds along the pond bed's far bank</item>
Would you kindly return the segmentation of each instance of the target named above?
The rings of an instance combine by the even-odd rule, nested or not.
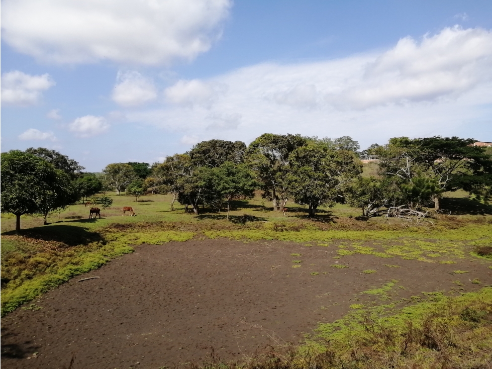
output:
[[[489,257],[473,253],[473,247],[492,243],[492,217],[487,215],[441,216],[416,226],[399,220],[359,221],[353,218],[357,209],[338,205],[321,209],[320,215],[310,220],[303,207],[289,207],[294,215],[284,217],[256,199],[236,202],[231,221],[226,221],[223,213],[213,209],[195,216],[184,214],[183,207],[176,204],[171,212],[169,196],[143,196],[139,203],[129,196],[113,199],[114,205],[102,211],[102,219],[85,219],[88,208],[83,205],[52,215],[48,219],[52,224],[47,226],[29,228],[39,224],[41,218],[24,217],[20,235],[9,232],[14,226],[13,217],[2,215],[2,314],[74,275],[132,252],[130,245],[143,243],[193,237],[282,240],[338,246],[339,257],[367,254],[441,263],[466,257],[488,262]],[[121,216],[121,207],[127,205],[137,216]]]

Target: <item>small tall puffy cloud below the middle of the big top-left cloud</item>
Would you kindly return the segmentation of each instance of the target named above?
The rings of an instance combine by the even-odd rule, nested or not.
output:
[[[115,103],[132,107],[145,104],[157,98],[152,81],[135,71],[118,72],[112,99]]]

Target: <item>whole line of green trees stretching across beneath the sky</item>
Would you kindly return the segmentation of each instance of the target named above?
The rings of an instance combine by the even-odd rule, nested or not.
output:
[[[209,140],[162,163],[111,163],[102,173],[57,151],[29,148],[2,153],[2,212],[17,216],[64,209],[100,192],[125,191],[136,201],[146,191],[170,194],[175,202],[221,211],[235,199],[263,199],[281,211],[287,201],[319,207],[336,203],[360,208],[363,216],[412,215],[423,207],[439,209],[446,191],[463,189],[488,202],[492,194],[492,156],[473,139],[458,137],[391,138],[363,152],[349,136],[337,139],[299,134],[263,134],[248,146],[241,141]],[[489,149],[488,149],[489,150]],[[376,175],[363,176],[359,154],[377,155]],[[108,197],[103,203],[108,205]],[[102,198],[100,198],[101,200]]]

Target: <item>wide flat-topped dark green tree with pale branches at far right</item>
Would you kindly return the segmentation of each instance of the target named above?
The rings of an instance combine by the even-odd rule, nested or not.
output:
[[[439,209],[439,198],[446,191],[464,189],[489,200],[492,160],[483,147],[473,146],[474,142],[473,139],[439,136],[391,138],[388,144],[377,148],[380,173],[399,178],[407,193],[412,193],[408,186],[413,186],[417,178],[420,179],[415,183],[414,193],[424,186],[421,178],[427,178],[429,191],[422,194],[429,194],[429,198],[427,201],[420,198],[420,204],[433,201],[435,209]]]

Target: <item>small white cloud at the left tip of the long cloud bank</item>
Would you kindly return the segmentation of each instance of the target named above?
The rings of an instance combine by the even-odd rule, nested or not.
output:
[[[218,88],[199,79],[179,80],[164,90],[166,100],[171,104],[188,107],[203,106],[210,108],[217,98]]]

